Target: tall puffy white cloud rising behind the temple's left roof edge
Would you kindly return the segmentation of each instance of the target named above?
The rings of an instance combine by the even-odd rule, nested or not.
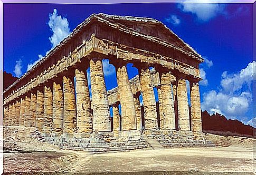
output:
[[[53,33],[52,36],[49,37],[52,48],[58,45],[61,40],[63,40],[70,34],[68,19],[64,17],[62,18],[61,15],[58,15],[57,9],[53,9],[53,13],[49,14],[48,26]],[[47,55],[49,52],[50,50],[48,50],[45,55]],[[34,61],[34,63],[30,63],[27,65],[27,71],[29,71],[34,65],[36,65],[42,58],[43,55],[38,55],[38,58]]]

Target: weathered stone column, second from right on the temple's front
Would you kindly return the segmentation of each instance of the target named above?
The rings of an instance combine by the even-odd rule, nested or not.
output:
[[[177,87],[177,99],[178,99],[178,123],[180,130],[189,130],[189,113],[188,113],[188,101],[187,101],[187,87],[186,80],[184,78],[178,79]]]

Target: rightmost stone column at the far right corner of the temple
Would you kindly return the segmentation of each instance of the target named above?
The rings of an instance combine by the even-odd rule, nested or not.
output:
[[[190,82],[190,99],[192,131],[202,132],[201,103],[198,82]]]

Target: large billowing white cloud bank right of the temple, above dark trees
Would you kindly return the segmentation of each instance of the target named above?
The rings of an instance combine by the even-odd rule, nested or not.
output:
[[[207,110],[210,114],[217,112],[232,119],[244,118],[252,104],[252,69],[255,66],[256,62],[253,61],[238,73],[228,74],[225,71],[221,77],[220,89],[203,94],[202,110]],[[245,117],[243,122],[249,122],[250,117]]]

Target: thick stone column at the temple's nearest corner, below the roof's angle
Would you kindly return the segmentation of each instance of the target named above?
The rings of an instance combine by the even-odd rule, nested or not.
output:
[[[93,130],[111,131],[108,96],[100,59],[90,60]]]

